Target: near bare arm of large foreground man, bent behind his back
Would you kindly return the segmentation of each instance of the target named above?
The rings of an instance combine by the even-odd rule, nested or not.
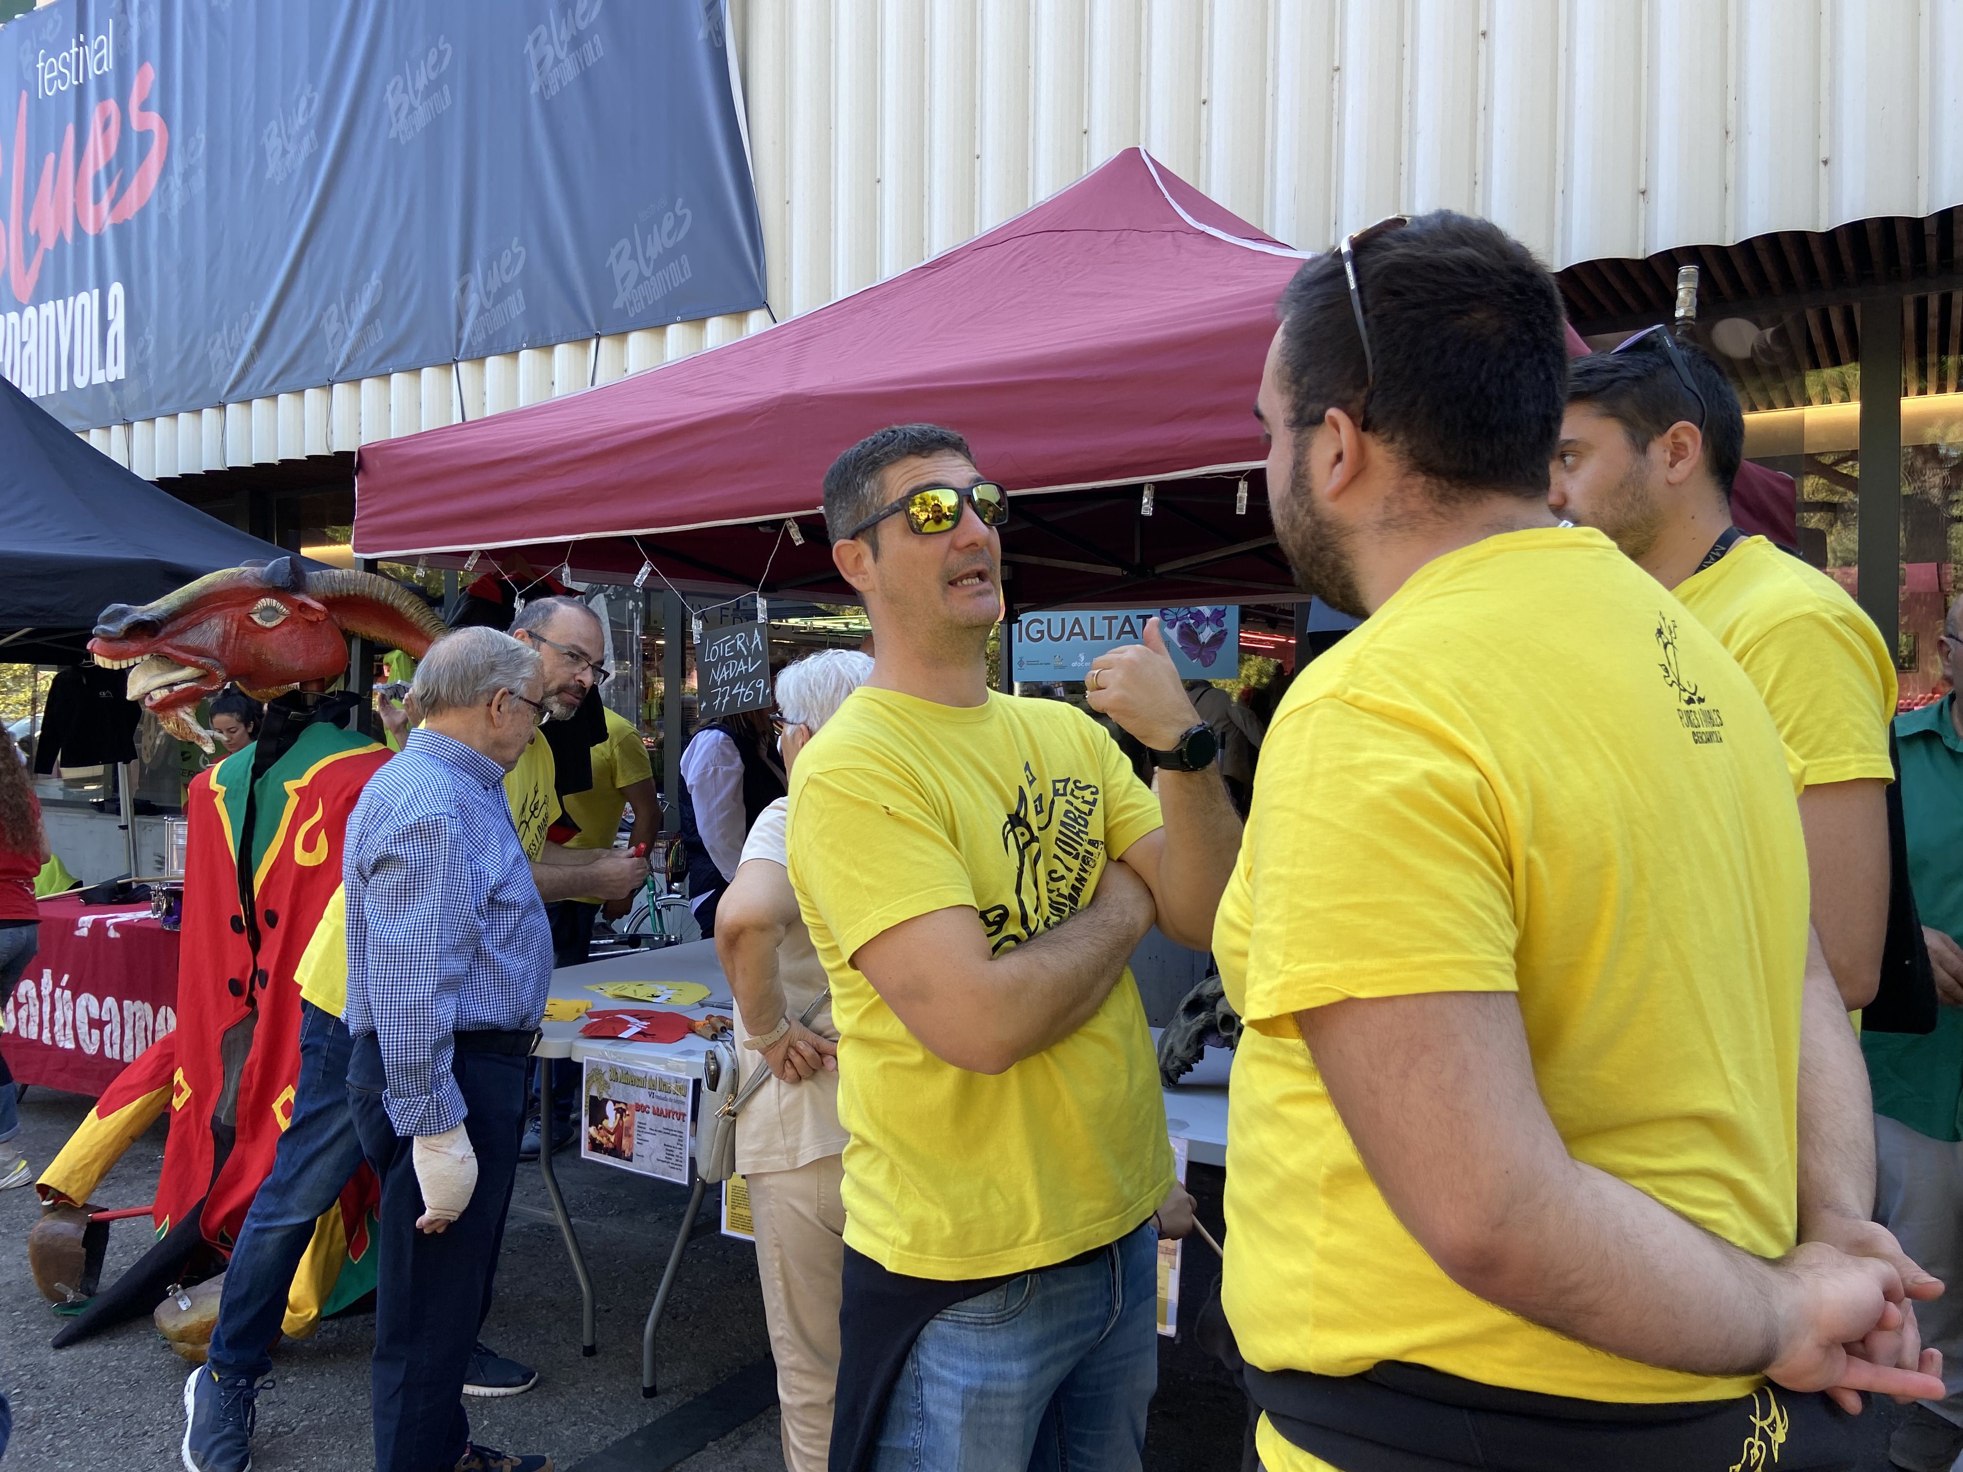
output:
[[[1353,999],[1296,1025],[1386,1203],[1460,1288],[1645,1364],[1932,1393],[1843,1348],[1900,1325],[1888,1264],[1824,1244],[1767,1262],[1574,1160],[1512,993]]]

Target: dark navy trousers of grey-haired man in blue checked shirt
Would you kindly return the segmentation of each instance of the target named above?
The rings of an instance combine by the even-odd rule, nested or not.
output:
[[[477,1152],[477,1189],[446,1231],[418,1233],[422,1187],[414,1140],[395,1132],[383,1107],[375,1034],[355,1038],[347,1103],[361,1150],[381,1176],[373,1364],[377,1472],[450,1472],[469,1441],[463,1372],[491,1311],[497,1254],[504,1244],[504,1209],[524,1130],[524,1054],[465,1048],[459,1038],[453,1072],[469,1111],[463,1127]]]

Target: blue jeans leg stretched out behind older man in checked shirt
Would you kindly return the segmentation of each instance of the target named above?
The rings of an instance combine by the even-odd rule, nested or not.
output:
[[[300,1079],[292,1121],[279,1136],[273,1170],[259,1183],[226,1268],[226,1291],[212,1329],[212,1374],[251,1376],[273,1368],[267,1350],[287,1315],[292,1272],[314,1223],[361,1164],[355,1117],[347,1109],[347,1050],[342,1019],[300,1003]]]

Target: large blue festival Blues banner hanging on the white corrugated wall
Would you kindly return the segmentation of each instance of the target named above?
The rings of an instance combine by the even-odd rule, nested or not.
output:
[[[764,304],[724,0],[0,27],[0,373],[71,428]]]

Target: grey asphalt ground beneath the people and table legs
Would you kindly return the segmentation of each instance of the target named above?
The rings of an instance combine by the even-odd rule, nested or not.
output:
[[[88,1113],[71,1093],[29,1089],[22,1150],[43,1168]],[[163,1158],[159,1121],[122,1158],[96,1199],[143,1205]],[[640,1329],[687,1193],[609,1166],[557,1156],[559,1183],[599,1291],[599,1354],[579,1354],[579,1291],[536,1166],[522,1166],[504,1231],[499,1295],[485,1339],[538,1368],[508,1399],[473,1399],[471,1435],[506,1450],[552,1452],[561,1472],[775,1472],[783,1466],[769,1401],[769,1342],[748,1242],[707,1231],[687,1250],[660,1335],[662,1393],[640,1393]],[[1219,1172],[1195,1166],[1203,1217],[1219,1229]],[[715,1191],[703,1207],[711,1219]],[[6,1472],[102,1472],[179,1466],[188,1366],[149,1317],[73,1348],[49,1348],[65,1323],[27,1274],[31,1189],[0,1191],[0,1390],[14,1405]],[[151,1242],[147,1221],[110,1229],[104,1282]],[[1182,1291],[1197,1307],[1213,1266],[1197,1242]],[[275,1386],[259,1397],[255,1472],[349,1472],[371,1466],[367,1366],[373,1315],[355,1307],[314,1335],[283,1342]],[[758,1393],[758,1388],[764,1388]],[[746,1419],[740,1419],[746,1417]],[[1190,1339],[1160,1341],[1148,1472],[1233,1472],[1243,1405],[1227,1374]],[[587,1464],[583,1470],[581,1464]]]

